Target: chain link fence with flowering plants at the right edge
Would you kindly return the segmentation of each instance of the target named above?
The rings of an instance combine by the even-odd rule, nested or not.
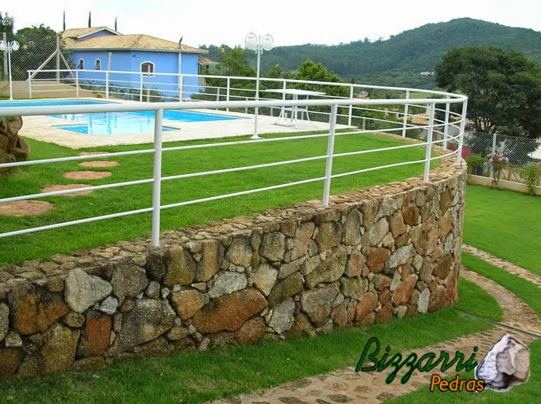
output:
[[[490,160],[496,154],[508,160],[501,170],[501,180],[525,183],[526,167],[531,164],[541,167],[541,143],[536,139],[482,132],[471,132],[464,137],[463,157],[470,174],[493,177],[494,166]]]

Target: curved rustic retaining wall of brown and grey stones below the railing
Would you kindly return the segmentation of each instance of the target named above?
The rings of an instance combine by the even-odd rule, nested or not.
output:
[[[457,299],[466,171],[0,267],[0,379],[315,336]]]

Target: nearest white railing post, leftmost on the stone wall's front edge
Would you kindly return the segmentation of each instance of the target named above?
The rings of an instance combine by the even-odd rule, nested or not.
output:
[[[154,165],[152,166],[152,247],[160,246],[160,205],[161,205],[161,131],[163,108],[154,115]]]

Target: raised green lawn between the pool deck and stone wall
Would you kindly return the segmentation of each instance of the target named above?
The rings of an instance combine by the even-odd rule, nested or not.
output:
[[[275,136],[275,135],[273,135]],[[233,141],[237,139],[228,139]],[[242,138],[246,139],[246,137]],[[80,150],[57,146],[27,139],[34,160],[77,155]],[[223,140],[221,140],[223,141]],[[167,143],[164,146],[186,146],[208,141]],[[374,134],[336,137],[335,153],[354,150],[368,150],[403,144],[401,140]],[[87,150],[106,150],[110,152],[124,150],[142,150],[149,145],[111,146]],[[293,160],[302,157],[325,155],[327,139],[299,139],[272,143],[224,146],[220,148],[202,148],[197,150],[179,150],[164,153],[163,176],[181,173],[193,173],[234,166],[263,164],[280,160]],[[338,157],[334,159],[333,173],[343,173],[403,162],[422,160],[423,148],[390,150],[369,155]],[[63,177],[64,171],[87,170],[77,162],[27,166],[0,177],[0,197],[39,193],[43,187],[54,184],[87,183],[101,185],[112,182],[141,180],[152,177],[152,155],[132,155],[115,157],[121,164],[112,167],[112,176],[103,180],[73,181]],[[433,162],[433,166],[439,160]],[[97,171],[103,169],[96,169]],[[332,194],[339,194],[354,189],[370,187],[384,182],[403,180],[422,173],[422,164],[399,166],[355,176],[336,178],[332,181]],[[325,160],[304,162],[266,169],[225,173],[215,176],[170,180],[162,184],[162,204],[200,199],[246,189],[267,187],[284,182],[293,182],[325,175]],[[268,208],[290,205],[300,201],[321,199],[323,182],[276,189],[265,194],[251,194],[221,201],[200,203],[181,208],[162,211],[161,230],[205,224],[216,219],[249,215]],[[57,222],[67,222],[98,215],[108,215],[124,210],[136,210],[151,207],[151,184],[135,185],[116,189],[101,189],[87,196],[44,198],[53,202],[55,210],[47,215],[26,217],[1,217],[2,231],[15,231],[22,228],[44,226]],[[46,258],[57,252],[67,253],[75,249],[96,247],[118,240],[129,240],[150,233],[150,214],[140,214],[118,219],[110,219],[91,224],[80,224],[66,228],[20,235],[0,239],[0,265],[17,263],[32,258]]]

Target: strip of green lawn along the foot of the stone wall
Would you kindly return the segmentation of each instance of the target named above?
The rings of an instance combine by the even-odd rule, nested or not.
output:
[[[441,327],[445,324],[445,327]],[[267,342],[113,364],[103,371],[0,382],[0,397],[19,403],[200,403],[355,366],[378,336],[403,352],[491,327],[452,308],[315,339]]]

